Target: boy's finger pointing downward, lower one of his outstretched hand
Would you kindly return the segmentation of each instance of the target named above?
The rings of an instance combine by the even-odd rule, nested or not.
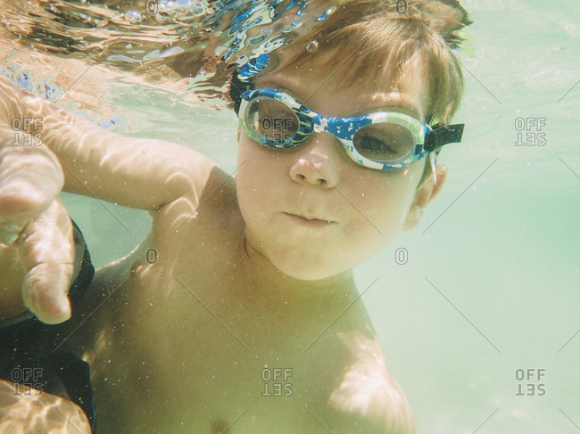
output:
[[[29,222],[16,242],[25,270],[22,298],[43,323],[70,318],[67,297],[74,271],[75,246],[68,213],[59,199]]]

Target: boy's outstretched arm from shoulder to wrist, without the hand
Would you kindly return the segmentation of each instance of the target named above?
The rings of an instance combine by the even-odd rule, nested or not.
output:
[[[14,120],[16,119],[16,120]],[[0,125],[21,127],[62,164],[63,190],[138,209],[200,192],[215,164],[162,140],[114,134],[0,78]],[[16,133],[16,132],[15,132]]]

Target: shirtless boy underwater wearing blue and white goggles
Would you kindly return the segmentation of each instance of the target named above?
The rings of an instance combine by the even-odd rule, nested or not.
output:
[[[30,208],[44,206],[59,190],[61,163],[65,191],[153,211],[151,239],[95,275],[45,350],[90,364],[99,432],[416,431],[357,302],[352,268],[417,225],[441,189],[445,168],[431,175],[434,152],[459,141],[460,127],[426,135],[427,124],[447,123],[462,82],[432,29],[449,36],[449,17],[383,8],[344,4],[260,74],[235,81],[235,179],[195,151],[114,135],[3,83],[4,126],[42,118],[50,149],[14,156],[3,140],[2,164],[12,168],[3,168],[4,186],[24,179],[21,195],[0,195],[4,221],[30,219],[22,208],[30,202],[21,201],[27,180],[45,189]],[[34,159],[43,172],[23,170]],[[57,202],[50,207],[41,222],[51,220],[62,238],[70,228]],[[24,281],[26,306],[55,323],[70,315],[63,294],[73,258],[38,244],[50,241],[41,225],[27,225],[0,255],[14,269],[4,310],[24,310],[16,301]],[[18,274],[16,249],[27,276]],[[67,381],[68,396],[82,396]],[[13,385],[2,384],[6,400]],[[62,405],[75,429],[89,430],[76,407],[45,395],[46,408]]]

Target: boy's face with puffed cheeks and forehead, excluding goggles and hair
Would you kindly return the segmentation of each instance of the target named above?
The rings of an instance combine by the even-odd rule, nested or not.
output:
[[[428,94],[419,74],[402,78],[399,92],[387,93],[384,83],[360,78],[345,86],[337,74],[328,78],[294,67],[261,76],[255,87],[286,91],[313,111],[341,118],[396,108],[422,119]],[[385,248],[410,209],[416,217],[413,204],[427,159],[376,170],[352,161],[327,133],[290,149],[238,135],[236,185],[246,240],[285,274],[319,280],[351,270]]]

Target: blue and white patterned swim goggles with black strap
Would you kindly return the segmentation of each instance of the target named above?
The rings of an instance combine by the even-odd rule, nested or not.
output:
[[[241,94],[237,117],[244,132],[264,146],[291,148],[313,133],[334,135],[365,168],[404,168],[447,143],[459,143],[463,124],[430,127],[397,111],[332,118],[311,111],[285,92],[258,88]]]

